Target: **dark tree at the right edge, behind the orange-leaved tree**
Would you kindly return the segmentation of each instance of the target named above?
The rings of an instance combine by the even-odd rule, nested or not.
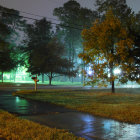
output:
[[[133,38],[133,49],[131,57],[134,59],[133,67],[135,70],[129,73],[129,80],[140,83],[140,13],[135,14],[126,4],[126,0],[96,0],[97,11],[100,15],[111,7],[113,13],[121,20],[123,26],[128,30],[128,36]]]

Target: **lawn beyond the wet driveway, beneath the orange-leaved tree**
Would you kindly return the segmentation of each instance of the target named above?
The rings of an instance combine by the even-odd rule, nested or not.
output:
[[[21,97],[51,102],[67,108],[122,122],[140,124],[140,94],[111,94],[97,90],[18,91]]]

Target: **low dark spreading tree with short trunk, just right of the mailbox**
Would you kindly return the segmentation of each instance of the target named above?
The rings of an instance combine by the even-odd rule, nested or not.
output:
[[[54,77],[76,76],[76,71],[72,70],[73,63],[64,58],[63,54],[64,47],[56,39],[52,39],[45,46],[33,50],[28,71],[32,74],[46,74],[49,85]]]

